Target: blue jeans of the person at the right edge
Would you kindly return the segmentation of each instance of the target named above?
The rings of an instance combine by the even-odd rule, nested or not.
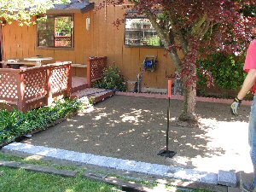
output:
[[[256,186],[256,94],[253,97],[253,104],[251,107],[251,114],[249,120],[249,145],[251,147],[251,159],[253,162],[254,179],[253,185]]]

